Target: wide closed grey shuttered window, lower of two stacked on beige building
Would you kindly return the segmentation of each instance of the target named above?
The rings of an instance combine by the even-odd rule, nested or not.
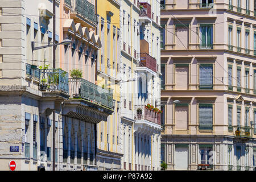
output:
[[[212,130],[212,104],[199,104],[199,130]]]

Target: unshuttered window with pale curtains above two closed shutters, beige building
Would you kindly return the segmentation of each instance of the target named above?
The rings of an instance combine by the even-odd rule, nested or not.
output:
[[[213,48],[213,25],[200,24],[200,48],[212,49]]]

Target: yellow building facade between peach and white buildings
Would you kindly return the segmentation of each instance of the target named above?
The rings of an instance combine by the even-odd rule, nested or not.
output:
[[[97,85],[113,92],[114,113],[108,122],[97,125],[97,166],[100,170],[120,169],[119,138],[119,3],[116,1],[97,1],[98,28],[102,48],[98,51]]]

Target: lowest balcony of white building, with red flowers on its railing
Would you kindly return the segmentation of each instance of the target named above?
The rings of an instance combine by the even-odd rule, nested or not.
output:
[[[161,114],[156,113],[154,110],[148,109],[147,106],[137,105],[136,108],[137,114],[135,114],[134,119],[137,120],[147,120],[149,122],[160,125],[161,123]]]

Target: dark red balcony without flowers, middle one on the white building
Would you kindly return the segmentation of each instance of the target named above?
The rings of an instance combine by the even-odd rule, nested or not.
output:
[[[137,63],[137,67],[147,67],[156,72],[156,60],[154,57],[148,55],[148,53],[139,53],[139,57],[141,57],[141,61]]]

